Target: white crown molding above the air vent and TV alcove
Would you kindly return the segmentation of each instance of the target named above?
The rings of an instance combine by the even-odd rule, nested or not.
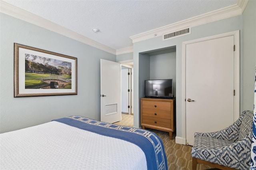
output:
[[[142,34],[137,34],[135,36],[131,36],[130,39],[132,39],[133,43],[140,42],[140,41],[162,36],[163,34],[168,32],[175,32],[177,30],[180,30],[186,27],[200,26],[210,22],[238,16],[244,12],[244,9],[247,3],[248,3],[248,0],[238,0],[238,3],[236,5],[232,5],[226,8],[208,12],[200,16],[196,16],[193,18],[189,18],[187,20],[183,20],[180,22],[176,22],[174,24],[170,24],[154,30],[150,30],[148,32],[144,32]]]

